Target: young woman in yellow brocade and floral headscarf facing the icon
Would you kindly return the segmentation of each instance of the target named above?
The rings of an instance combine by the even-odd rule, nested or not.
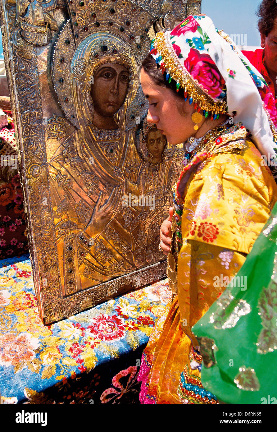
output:
[[[141,84],[148,122],[170,144],[185,142],[187,153],[173,187],[172,240],[161,230],[176,295],[143,353],[140,400],[219,403],[202,386],[192,326],[242,267],[277,200],[274,177],[261,163],[261,155],[275,157],[277,141],[258,91],[268,88],[207,16],[157,33]],[[167,222],[170,231],[171,216]],[[243,307],[233,320],[247,313]]]

